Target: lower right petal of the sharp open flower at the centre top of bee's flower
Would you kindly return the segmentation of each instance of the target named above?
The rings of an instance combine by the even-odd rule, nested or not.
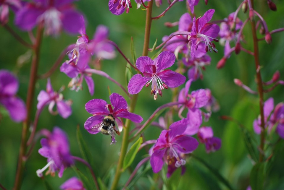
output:
[[[158,73],[158,76],[170,88],[175,88],[182,85],[186,79],[186,77],[182,74],[176,73],[171,70],[162,71]]]

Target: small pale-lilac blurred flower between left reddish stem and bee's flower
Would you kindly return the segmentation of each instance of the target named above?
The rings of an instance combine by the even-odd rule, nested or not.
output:
[[[56,104],[57,111],[53,111],[53,107]],[[42,109],[44,106],[48,106],[49,113],[55,115],[57,112],[59,115],[63,118],[67,118],[71,115],[71,102],[70,101],[64,101],[63,95],[59,92],[54,92],[50,79],[47,79],[46,84],[46,91],[41,90],[38,94],[38,104],[36,107],[38,110]]]

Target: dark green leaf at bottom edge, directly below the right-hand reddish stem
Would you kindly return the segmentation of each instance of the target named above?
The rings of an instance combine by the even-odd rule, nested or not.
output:
[[[263,189],[264,179],[265,179],[264,164],[265,164],[264,162],[257,163],[251,169],[250,183],[252,190]]]

